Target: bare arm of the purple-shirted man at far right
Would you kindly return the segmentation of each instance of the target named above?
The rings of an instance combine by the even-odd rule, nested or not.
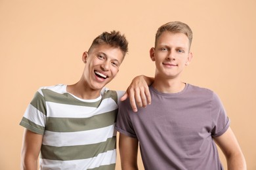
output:
[[[224,156],[226,157],[228,169],[246,169],[244,155],[230,127],[228,127],[227,131],[223,135],[216,137],[215,142],[221,148]]]

